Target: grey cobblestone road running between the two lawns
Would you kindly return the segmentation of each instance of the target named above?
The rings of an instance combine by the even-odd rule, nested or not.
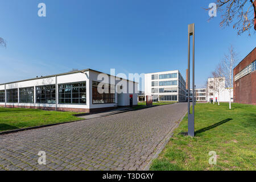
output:
[[[141,170],[186,111],[162,105],[0,135],[0,170]]]

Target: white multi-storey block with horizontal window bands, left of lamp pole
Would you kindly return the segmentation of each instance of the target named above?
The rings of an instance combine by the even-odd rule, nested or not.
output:
[[[185,80],[178,70],[145,74],[145,96],[153,101],[186,100]]]

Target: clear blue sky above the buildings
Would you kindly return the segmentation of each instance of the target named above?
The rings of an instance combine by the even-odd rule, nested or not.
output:
[[[46,3],[47,16],[38,16]],[[238,36],[207,22],[207,0],[6,0],[0,2],[0,83],[91,68],[110,73],[150,73],[187,68],[187,26],[196,26],[196,86],[205,80],[230,44],[242,60],[256,34]],[[253,30],[252,30],[253,31]],[[240,61],[239,60],[239,61]]]

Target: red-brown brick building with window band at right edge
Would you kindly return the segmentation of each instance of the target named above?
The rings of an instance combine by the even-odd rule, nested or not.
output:
[[[256,47],[234,69],[234,102],[256,105]]]

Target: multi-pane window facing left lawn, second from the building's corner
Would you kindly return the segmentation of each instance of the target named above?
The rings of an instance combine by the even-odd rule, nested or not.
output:
[[[55,85],[36,86],[36,103],[55,104]]]

